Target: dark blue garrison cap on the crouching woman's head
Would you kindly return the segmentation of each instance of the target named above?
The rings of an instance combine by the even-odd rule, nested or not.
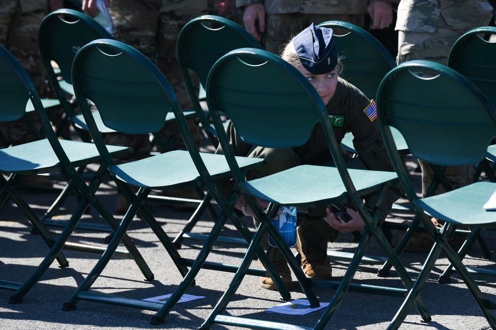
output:
[[[332,29],[311,23],[293,39],[293,44],[300,62],[310,73],[320,75],[330,72],[338,63]]]

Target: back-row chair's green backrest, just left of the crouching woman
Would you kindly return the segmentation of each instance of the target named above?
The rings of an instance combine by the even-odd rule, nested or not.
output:
[[[176,57],[186,91],[202,128],[214,146],[218,144],[216,133],[203,112],[199,91],[195,89],[189,70],[197,76],[200,91],[203,91],[212,65],[227,52],[243,47],[262,48],[242,26],[220,16],[199,16],[189,21],[178,36]]]

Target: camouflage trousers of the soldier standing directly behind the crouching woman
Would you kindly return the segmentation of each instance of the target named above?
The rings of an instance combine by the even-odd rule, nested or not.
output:
[[[266,14],[263,46],[274,54],[279,54],[283,47],[303,29],[313,22],[320,24],[325,21],[338,20],[364,26],[364,14]],[[335,31],[339,34],[339,31]]]

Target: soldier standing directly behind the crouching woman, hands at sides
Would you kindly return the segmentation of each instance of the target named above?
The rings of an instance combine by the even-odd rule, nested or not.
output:
[[[384,29],[393,22],[392,3],[399,0],[236,0],[245,9],[245,28],[266,50],[278,54],[292,36],[310,23],[338,20],[364,27],[365,14],[372,17],[371,29]]]

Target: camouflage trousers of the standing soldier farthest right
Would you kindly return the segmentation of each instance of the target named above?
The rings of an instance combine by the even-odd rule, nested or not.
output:
[[[443,65],[448,63],[451,46],[466,31],[451,29],[444,18],[439,16],[439,22],[434,33],[399,31],[397,63],[424,59]],[[422,169],[422,193],[425,196],[432,183],[433,172],[428,164],[420,161]],[[460,188],[474,182],[474,165],[451,166],[446,169],[446,176],[453,188]],[[436,194],[443,192],[439,187]]]

